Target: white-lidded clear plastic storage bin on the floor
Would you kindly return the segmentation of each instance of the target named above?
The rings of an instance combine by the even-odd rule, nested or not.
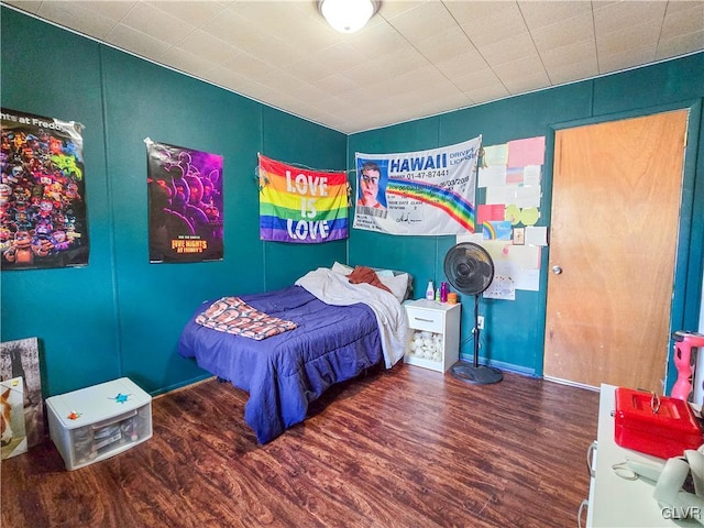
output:
[[[67,470],[152,438],[152,397],[127,377],[52,396],[46,408],[52,440]]]

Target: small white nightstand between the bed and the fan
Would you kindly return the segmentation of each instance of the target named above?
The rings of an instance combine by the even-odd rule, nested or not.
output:
[[[404,361],[447,372],[460,358],[462,305],[417,299],[404,302],[408,318],[408,343]]]

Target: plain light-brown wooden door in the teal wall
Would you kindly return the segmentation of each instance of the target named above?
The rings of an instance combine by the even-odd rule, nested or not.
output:
[[[686,122],[556,133],[546,377],[663,393]]]

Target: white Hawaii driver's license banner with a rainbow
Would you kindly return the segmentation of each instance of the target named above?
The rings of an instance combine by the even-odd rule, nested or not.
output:
[[[389,234],[474,232],[482,136],[400,154],[355,153],[355,229]]]

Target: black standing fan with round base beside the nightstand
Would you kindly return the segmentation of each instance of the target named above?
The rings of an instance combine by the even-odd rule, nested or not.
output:
[[[444,255],[444,274],[454,289],[474,296],[474,364],[459,361],[450,372],[457,378],[477,385],[501,382],[504,378],[502,371],[480,365],[480,295],[494,279],[492,256],[479,244],[462,242]]]

